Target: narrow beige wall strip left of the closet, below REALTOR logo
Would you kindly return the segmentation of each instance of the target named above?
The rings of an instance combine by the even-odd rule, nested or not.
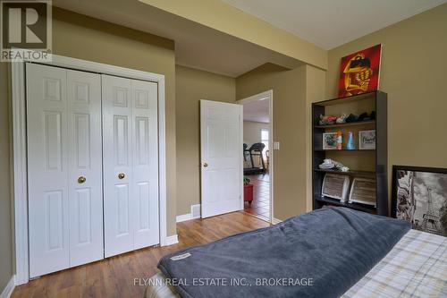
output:
[[[0,292],[13,277],[8,64],[0,63]]]

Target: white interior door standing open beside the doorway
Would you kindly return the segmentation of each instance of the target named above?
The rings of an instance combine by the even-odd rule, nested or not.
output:
[[[242,106],[200,100],[202,217],[243,208]]]

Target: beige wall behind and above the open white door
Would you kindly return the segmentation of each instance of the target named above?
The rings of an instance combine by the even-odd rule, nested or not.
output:
[[[236,91],[233,78],[179,65],[175,67],[175,86],[177,215],[182,215],[200,203],[199,100],[234,102]]]

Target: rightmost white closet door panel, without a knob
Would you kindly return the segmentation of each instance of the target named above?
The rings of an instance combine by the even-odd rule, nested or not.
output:
[[[134,249],[159,243],[157,84],[131,81]]]

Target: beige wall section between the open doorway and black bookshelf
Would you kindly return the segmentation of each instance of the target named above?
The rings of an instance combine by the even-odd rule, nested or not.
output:
[[[274,217],[306,211],[306,65],[286,70],[264,64],[236,79],[236,98],[273,89]]]

